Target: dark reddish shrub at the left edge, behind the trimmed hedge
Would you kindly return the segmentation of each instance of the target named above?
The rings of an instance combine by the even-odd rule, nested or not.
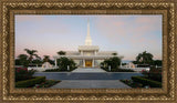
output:
[[[32,79],[34,70],[29,70],[27,68],[15,68],[15,81],[23,81]]]

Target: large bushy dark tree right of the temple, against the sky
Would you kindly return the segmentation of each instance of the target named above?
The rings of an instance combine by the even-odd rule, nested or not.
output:
[[[149,64],[153,62],[153,54],[144,51],[136,56],[136,61],[143,64]]]

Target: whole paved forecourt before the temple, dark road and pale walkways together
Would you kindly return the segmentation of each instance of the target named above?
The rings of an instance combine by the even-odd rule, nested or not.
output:
[[[90,72],[92,71],[92,72]],[[61,80],[51,89],[131,89],[119,80],[131,80],[138,72],[106,72],[102,69],[76,69],[73,72],[35,72],[34,76]]]

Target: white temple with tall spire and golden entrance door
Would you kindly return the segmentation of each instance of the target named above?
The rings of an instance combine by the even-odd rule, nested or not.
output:
[[[90,21],[87,21],[87,35],[85,39],[85,45],[79,45],[77,50],[79,51],[65,51],[65,55],[53,56],[55,60],[55,66],[58,65],[56,59],[62,56],[73,59],[79,68],[100,68],[100,63],[105,59],[117,56],[113,55],[113,53],[117,53],[116,51],[100,51],[98,45],[92,45],[92,38],[90,35]]]

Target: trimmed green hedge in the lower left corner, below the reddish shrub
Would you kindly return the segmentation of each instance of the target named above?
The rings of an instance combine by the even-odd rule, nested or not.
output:
[[[34,79],[19,81],[15,83],[15,87],[30,87],[45,81],[45,76],[34,76]]]

